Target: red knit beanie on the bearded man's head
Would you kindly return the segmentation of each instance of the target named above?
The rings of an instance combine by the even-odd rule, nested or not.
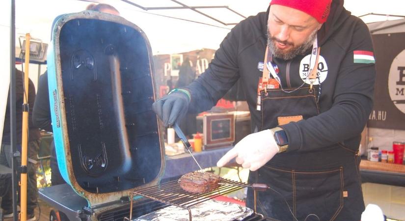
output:
[[[279,4],[295,8],[314,17],[319,23],[326,22],[331,0],[271,0],[270,4]]]

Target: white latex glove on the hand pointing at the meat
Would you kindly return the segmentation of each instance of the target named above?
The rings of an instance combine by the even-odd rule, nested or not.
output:
[[[236,163],[255,171],[270,161],[277,152],[278,146],[273,132],[264,130],[244,137],[219,159],[216,166],[224,166],[236,157]]]

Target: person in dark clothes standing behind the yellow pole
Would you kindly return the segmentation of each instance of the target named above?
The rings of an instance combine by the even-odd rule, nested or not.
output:
[[[21,153],[22,131],[23,131],[23,103],[24,103],[24,72],[15,70],[16,76],[16,146],[17,150]],[[5,111],[3,137],[1,140],[0,151],[0,164],[11,168],[11,158],[13,157],[13,150],[11,147],[11,131],[10,131],[10,96],[7,99],[7,108]],[[30,79],[28,79],[28,149],[27,149],[27,221],[35,221],[34,210],[37,206],[38,189],[36,182],[36,164],[37,154],[39,149],[39,143],[41,141],[40,131],[32,123],[32,109],[35,102],[35,86]],[[21,166],[21,157],[17,159],[17,166]],[[20,171],[18,172],[20,178]],[[11,182],[11,179],[9,180]],[[8,189],[11,188],[11,184],[7,184]],[[0,189],[6,188],[0,186]],[[1,192],[1,191],[0,191]],[[20,192],[19,192],[20,193]],[[13,217],[13,192],[10,189],[6,195],[1,198],[1,209],[3,210],[4,218]],[[20,196],[19,196],[20,198]]]

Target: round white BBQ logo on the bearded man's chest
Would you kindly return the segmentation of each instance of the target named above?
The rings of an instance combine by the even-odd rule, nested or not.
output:
[[[299,76],[301,77],[302,81],[307,84],[310,84],[309,78],[307,78],[310,58],[311,55],[306,55],[304,58],[302,58],[301,63],[299,64]],[[319,55],[317,78],[319,78],[319,81],[323,83],[324,80],[326,79],[326,76],[327,76],[327,64],[325,58],[322,55]],[[319,81],[317,80],[313,84],[317,85],[319,84]]]

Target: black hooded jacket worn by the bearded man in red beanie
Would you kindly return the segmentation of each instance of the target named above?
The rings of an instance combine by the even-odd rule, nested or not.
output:
[[[209,110],[241,79],[252,132],[260,130],[262,113],[256,111],[256,97],[262,71],[258,63],[263,62],[265,55],[268,12],[248,17],[232,28],[205,73],[187,87],[191,92],[189,111]],[[343,7],[343,0],[332,1],[330,15],[318,31],[318,46],[327,64],[327,71],[321,71],[327,72],[327,77],[322,82],[320,114],[281,126],[289,140],[286,153],[323,151],[338,142],[358,150],[360,134],[373,107],[375,64],[353,62],[353,51],[373,52],[370,32],[362,20]],[[309,54],[310,50],[306,55]],[[298,73],[306,55],[287,61],[274,59],[284,88],[303,83]]]

